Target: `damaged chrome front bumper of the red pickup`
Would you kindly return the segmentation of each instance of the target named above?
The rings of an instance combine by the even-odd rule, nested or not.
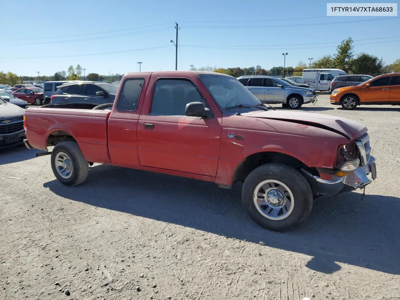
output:
[[[332,180],[324,180],[304,169],[301,169],[301,171],[310,184],[313,194],[317,195],[334,195],[339,192],[349,192],[363,188],[376,179],[376,165],[373,156],[370,156],[367,164],[359,166],[352,174],[344,177],[332,176]]]

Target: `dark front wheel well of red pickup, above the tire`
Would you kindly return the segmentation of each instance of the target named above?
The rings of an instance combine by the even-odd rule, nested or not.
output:
[[[292,168],[295,168],[296,170],[304,168],[313,175],[319,175],[316,168],[309,168],[308,166],[306,166],[306,164],[288,154],[280,152],[258,152],[246,157],[240,163],[240,165],[235,170],[232,182],[243,182],[248,174],[250,174],[250,172],[252,172],[254,169],[263,164],[269,163],[285,164],[286,166],[290,166]]]

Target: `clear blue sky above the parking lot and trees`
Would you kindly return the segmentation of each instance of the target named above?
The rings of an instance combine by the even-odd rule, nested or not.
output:
[[[400,18],[326,17],[320,0],[19,0],[18,8],[24,8],[22,15],[12,2],[2,3],[0,36],[0,70],[18,75],[52,75],[71,64],[86,74],[124,74],[138,71],[139,61],[142,71],[174,70],[175,22],[178,70],[191,64],[270,69],[283,66],[282,52],[289,53],[286,66],[296,66],[333,54],[349,36],[360,44],[355,53],[374,54],[387,64],[400,58]],[[336,24],[377,18],[385,19]],[[98,53],[107,54],[92,55]]]

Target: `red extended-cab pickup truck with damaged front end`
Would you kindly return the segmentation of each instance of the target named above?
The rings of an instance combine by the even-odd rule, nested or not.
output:
[[[126,74],[114,103],[28,108],[24,127],[28,148],[54,146],[62,184],[84,182],[93,162],[221,188],[243,182],[246,211],[275,231],[301,224],[316,197],[376,178],[365,126],[267,108],[236,78],[213,72]]]

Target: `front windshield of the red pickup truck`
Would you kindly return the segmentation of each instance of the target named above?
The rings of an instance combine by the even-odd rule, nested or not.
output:
[[[224,75],[199,75],[218,105],[225,109],[236,104],[260,105],[261,102],[236,78]]]

